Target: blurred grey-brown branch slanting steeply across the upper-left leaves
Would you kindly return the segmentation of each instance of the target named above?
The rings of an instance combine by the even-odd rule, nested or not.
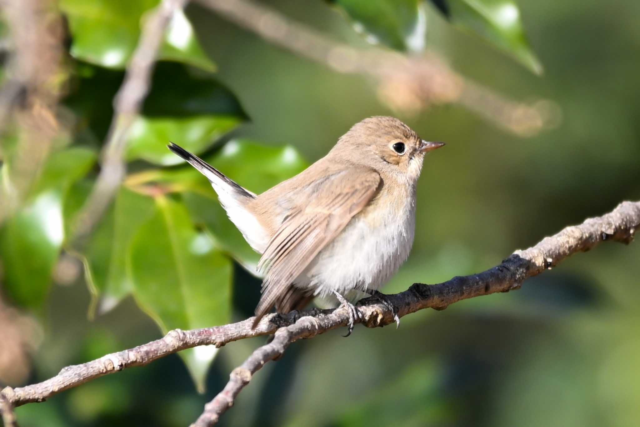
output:
[[[72,240],[76,244],[91,232],[124,178],[124,152],[129,130],[147,96],[166,27],[175,12],[184,8],[186,3],[188,0],[163,0],[145,23],[122,86],[113,99],[113,119],[102,152],[102,170],[74,223]]]

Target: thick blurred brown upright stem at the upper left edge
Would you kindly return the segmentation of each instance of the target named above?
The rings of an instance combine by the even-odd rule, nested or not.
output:
[[[0,134],[5,136],[13,119],[11,131],[19,138],[0,189],[1,222],[31,189],[61,131],[56,108],[65,70],[63,26],[55,1],[4,0],[0,6],[10,29],[7,76],[0,88]],[[2,148],[6,161],[9,148]]]

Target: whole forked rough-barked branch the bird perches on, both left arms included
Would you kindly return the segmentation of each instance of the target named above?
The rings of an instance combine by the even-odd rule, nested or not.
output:
[[[580,225],[566,227],[529,249],[516,250],[502,264],[482,273],[454,277],[435,285],[416,283],[404,292],[388,295],[388,298],[396,307],[397,314],[402,317],[429,307],[442,310],[467,298],[518,289],[526,278],[550,270],[570,255],[586,252],[602,241],[630,243],[638,227],[640,202],[623,202],[611,213],[590,218]],[[392,312],[375,298],[362,300],[357,307],[361,316],[358,322],[369,328],[394,322]],[[264,363],[282,355],[291,342],[346,326],[348,321],[348,309],[339,307],[332,310],[291,312],[284,316],[271,314],[265,316],[255,329],[251,328],[253,318],[249,318],[211,328],[172,330],[156,341],[131,350],[111,353],[84,364],[67,366],[49,380],[16,389],[6,387],[0,394],[13,406],[44,401],[58,392],[93,378],[127,367],[146,365],[186,348],[203,345],[220,347],[239,339],[275,334],[272,342],[257,348],[240,367],[234,369],[223,391],[205,405],[203,414],[194,424],[197,427],[211,426],[234,403],[237,394],[250,382],[252,375]]]

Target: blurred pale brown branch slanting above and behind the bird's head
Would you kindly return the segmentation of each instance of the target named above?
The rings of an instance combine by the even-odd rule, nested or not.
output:
[[[336,70],[376,81],[380,101],[404,113],[455,102],[522,136],[550,124],[554,104],[515,102],[449,68],[436,54],[406,56],[385,49],[356,49],[250,0],[198,0],[269,42]],[[557,108],[556,108],[557,109]],[[556,112],[557,113],[557,112]]]

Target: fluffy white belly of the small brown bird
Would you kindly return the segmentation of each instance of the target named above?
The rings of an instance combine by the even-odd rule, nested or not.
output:
[[[406,261],[413,245],[415,207],[388,212],[372,224],[354,216],[342,232],[294,280],[296,287],[317,296],[365,289],[376,290]]]

